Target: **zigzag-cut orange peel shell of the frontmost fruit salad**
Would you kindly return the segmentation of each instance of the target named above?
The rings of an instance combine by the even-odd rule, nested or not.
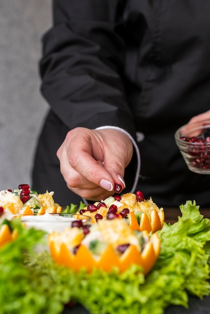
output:
[[[156,233],[152,234],[149,242],[145,244],[142,252],[135,245],[130,245],[121,255],[117,255],[113,246],[108,244],[98,259],[95,259],[89,249],[80,244],[75,254],[72,254],[64,242],[56,241],[56,232],[48,236],[50,253],[54,261],[60,265],[69,267],[75,271],[86,268],[91,272],[93,268],[110,272],[113,267],[118,267],[120,272],[125,271],[133,264],[142,266],[146,275],[155,265],[160,252],[160,239]]]

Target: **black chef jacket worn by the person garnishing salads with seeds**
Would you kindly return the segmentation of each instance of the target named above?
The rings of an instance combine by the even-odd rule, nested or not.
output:
[[[54,0],[43,37],[41,91],[50,105],[40,134],[33,188],[79,202],[56,151],[68,130],[114,125],[137,140],[136,190],[158,206],[210,205],[210,176],[190,172],[175,144],[178,127],[210,104],[209,0]],[[79,153],[79,152],[78,152]],[[135,156],[126,170],[135,176]]]

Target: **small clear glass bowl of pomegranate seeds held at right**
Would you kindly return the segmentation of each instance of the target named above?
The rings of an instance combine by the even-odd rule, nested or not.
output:
[[[181,126],[175,141],[189,170],[210,174],[210,119]]]

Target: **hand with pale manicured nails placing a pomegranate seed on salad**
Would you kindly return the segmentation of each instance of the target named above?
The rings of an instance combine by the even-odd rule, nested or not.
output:
[[[132,155],[128,135],[111,128],[74,128],[57,151],[68,188],[91,201],[113,195],[116,183],[125,188],[124,172]]]

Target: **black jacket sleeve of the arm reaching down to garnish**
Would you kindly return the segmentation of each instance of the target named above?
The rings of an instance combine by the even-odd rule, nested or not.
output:
[[[123,1],[54,0],[43,36],[41,92],[70,129],[114,125],[135,137],[123,83]]]

